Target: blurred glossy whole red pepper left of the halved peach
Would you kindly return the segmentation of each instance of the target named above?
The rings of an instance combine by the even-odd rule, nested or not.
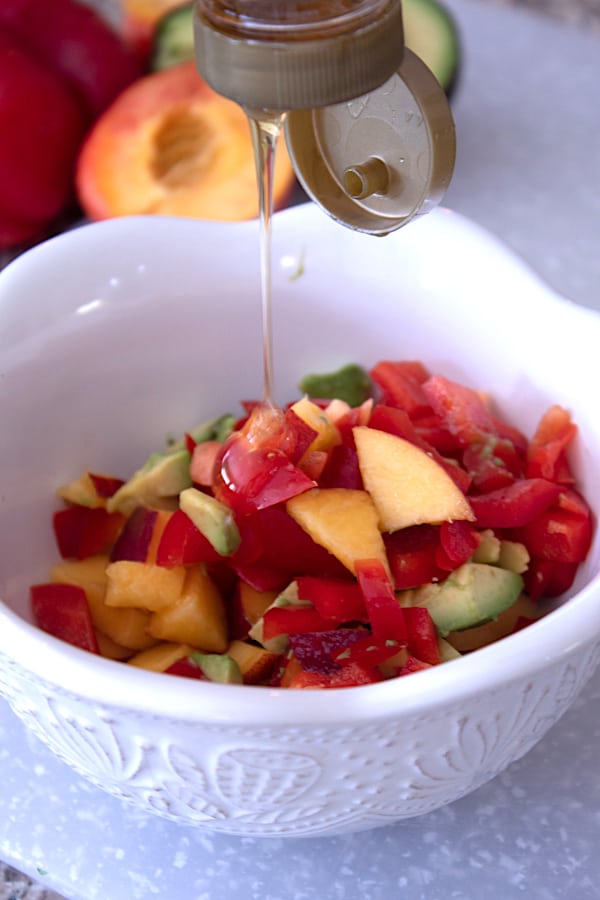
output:
[[[140,75],[123,38],[76,0],[0,3],[0,250],[75,202],[86,130]]]

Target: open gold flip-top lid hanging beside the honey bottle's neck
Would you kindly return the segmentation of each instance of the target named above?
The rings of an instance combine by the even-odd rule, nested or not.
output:
[[[378,89],[287,116],[286,141],[306,193],[343,225],[388,234],[429,212],[454,169],[454,121],[444,90],[405,49]]]

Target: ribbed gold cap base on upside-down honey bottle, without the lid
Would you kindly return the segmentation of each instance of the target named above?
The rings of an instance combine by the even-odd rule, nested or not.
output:
[[[204,80],[247,110],[329,106],[366,94],[398,68],[402,4],[198,0],[194,44]]]

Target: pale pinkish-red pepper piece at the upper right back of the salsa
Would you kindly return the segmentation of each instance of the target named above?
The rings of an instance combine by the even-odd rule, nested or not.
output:
[[[423,384],[423,391],[444,426],[463,447],[496,434],[494,417],[477,391],[467,385],[433,375]]]

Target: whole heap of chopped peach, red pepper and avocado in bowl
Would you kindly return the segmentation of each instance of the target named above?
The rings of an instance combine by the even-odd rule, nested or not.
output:
[[[350,687],[477,650],[571,586],[592,516],[567,410],[528,440],[416,361],[300,390],[205,422],[127,481],[63,486],[39,627],[189,678]]]

